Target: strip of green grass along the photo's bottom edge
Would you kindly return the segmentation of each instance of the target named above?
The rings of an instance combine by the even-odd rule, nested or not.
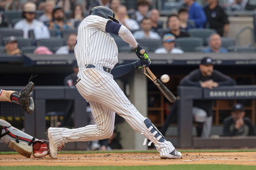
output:
[[[167,166],[0,166],[1,170],[35,170],[35,169],[47,169],[47,170],[141,170],[141,169],[161,169],[161,170],[255,170],[255,166],[243,166],[243,165],[167,165]]]

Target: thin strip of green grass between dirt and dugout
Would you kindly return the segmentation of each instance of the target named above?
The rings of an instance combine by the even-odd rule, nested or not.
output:
[[[178,149],[180,152],[256,152],[256,149]],[[58,153],[67,154],[85,154],[85,153],[158,153],[156,150],[132,151],[132,150],[114,150],[114,151],[61,151]],[[0,155],[18,154],[18,152],[0,152]]]

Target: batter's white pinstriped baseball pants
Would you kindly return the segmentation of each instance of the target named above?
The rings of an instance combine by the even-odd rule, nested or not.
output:
[[[134,131],[147,131],[148,128],[143,123],[146,118],[127,99],[111,74],[100,68],[86,68],[79,71],[77,76],[81,80],[76,84],[76,88],[90,103],[96,124],[77,129],[52,128],[51,135],[56,145],[109,138],[114,130],[115,113],[123,117]],[[174,150],[172,143],[166,140],[156,142],[155,146],[160,156]]]

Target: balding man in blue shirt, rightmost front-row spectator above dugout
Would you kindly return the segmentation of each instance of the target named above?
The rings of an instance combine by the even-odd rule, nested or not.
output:
[[[217,33],[213,33],[210,36],[209,41],[210,48],[203,49],[202,53],[228,53],[226,48],[220,47],[221,46],[221,37]]]

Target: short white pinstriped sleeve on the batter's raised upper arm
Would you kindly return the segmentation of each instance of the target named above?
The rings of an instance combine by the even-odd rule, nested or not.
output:
[[[84,19],[85,27],[87,29],[99,29],[106,32],[106,25],[110,19],[102,18],[97,15],[89,15]]]

